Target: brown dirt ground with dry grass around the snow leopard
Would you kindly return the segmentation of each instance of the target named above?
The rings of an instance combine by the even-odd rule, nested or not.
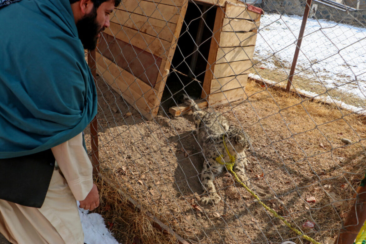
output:
[[[223,200],[202,206],[203,157],[191,116],[173,118],[160,110],[147,121],[101,78],[97,86],[101,174],[111,183],[99,186],[98,212],[120,243],[176,242],[163,235],[147,241],[144,224],[129,221],[119,210],[124,203],[113,205],[110,200],[113,184],[188,243],[309,243],[273,218],[228,172],[215,182]],[[247,97],[213,109],[253,140],[247,153],[251,185],[295,228],[321,243],[335,238],[366,170],[365,117],[265,89],[251,80],[245,90]],[[90,145],[89,136],[86,140]],[[307,221],[314,228],[303,227]]]

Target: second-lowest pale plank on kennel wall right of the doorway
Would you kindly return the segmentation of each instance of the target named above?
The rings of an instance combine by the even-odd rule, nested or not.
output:
[[[211,81],[211,93],[232,90],[239,87],[245,87],[248,80],[248,74],[235,75]]]

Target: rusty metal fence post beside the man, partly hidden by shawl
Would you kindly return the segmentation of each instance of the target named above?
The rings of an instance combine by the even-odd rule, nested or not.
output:
[[[97,76],[97,66],[95,63],[95,50],[91,50],[88,52],[88,65],[95,82]],[[90,123],[90,143],[91,143],[91,162],[93,164],[93,174],[98,174],[100,171],[99,171],[97,116],[95,116]]]

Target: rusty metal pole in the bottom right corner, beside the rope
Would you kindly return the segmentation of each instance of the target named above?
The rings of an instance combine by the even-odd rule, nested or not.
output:
[[[366,220],[366,186],[358,187],[356,197],[356,202],[347,214],[335,244],[353,244]]]

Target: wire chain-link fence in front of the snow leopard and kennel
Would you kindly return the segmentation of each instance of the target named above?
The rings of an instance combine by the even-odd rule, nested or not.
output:
[[[100,212],[121,243],[334,241],[366,170],[366,12],[355,2],[310,5],[291,93],[284,88],[306,1],[256,3],[264,13],[236,0],[126,0],[116,8],[89,62],[97,72]],[[195,130],[183,94],[213,119],[196,116]],[[232,139],[245,135],[238,131],[251,138],[239,136],[250,142],[244,153]],[[226,168],[217,173],[227,154],[261,201]],[[153,237],[140,218],[146,211],[175,235]]]

